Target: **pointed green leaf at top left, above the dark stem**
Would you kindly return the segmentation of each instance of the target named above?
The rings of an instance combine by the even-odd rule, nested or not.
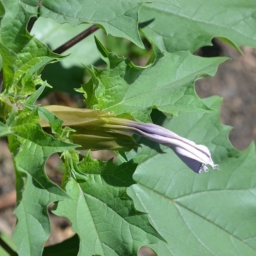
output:
[[[30,12],[37,12],[38,1],[22,0]],[[42,17],[52,18],[59,23],[68,22],[77,26],[83,22],[97,24],[108,34],[124,37],[140,47],[144,47],[138,33],[138,12],[145,0],[118,1],[118,0],[44,0],[39,12]],[[161,3],[172,5],[176,1],[160,0]]]

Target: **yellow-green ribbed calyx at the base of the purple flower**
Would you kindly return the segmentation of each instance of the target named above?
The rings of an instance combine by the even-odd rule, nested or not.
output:
[[[64,127],[68,126],[74,129],[75,132],[72,132],[68,138],[73,143],[80,145],[83,150],[129,151],[134,147],[140,147],[130,135],[113,130],[116,125],[113,127],[107,125],[111,123],[112,118],[115,118],[112,113],[54,105],[44,108],[63,120]],[[120,120],[124,119],[120,118]],[[44,129],[51,127],[44,119],[40,120],[40,125]]]

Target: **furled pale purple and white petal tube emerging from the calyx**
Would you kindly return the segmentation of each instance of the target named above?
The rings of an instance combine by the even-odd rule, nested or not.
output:
[[[132,132],[172,148],[175,154],[196,173],[207,172],[207,164],[214,169],[218,168],[218,164],[213,163],[211,153],[207,147],[197,145],[195,142],[183,138],[159,125],[142,124],[123,118],[111,117],[102,119],[107,123],[103,125],[104,127],[115,131]]]

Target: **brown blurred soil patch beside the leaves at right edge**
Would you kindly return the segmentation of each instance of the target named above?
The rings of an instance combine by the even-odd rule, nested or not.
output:
[[[196,92],[202,98],[212,95],[223,97],[221,122],[234,127],[230,141],[244,150],[256,141],[256,49],[242,47],[244,54],[227,44],[217,42],[220,52],[227,56],[214,77],[196,81]]]

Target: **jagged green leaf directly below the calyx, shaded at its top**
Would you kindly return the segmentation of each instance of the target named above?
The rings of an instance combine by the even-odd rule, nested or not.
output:
[[[104,163],[88,154],[77,164],[86,178],[77,179],[73,170],[67,174],[66,191],[73,200],[58,202],[54,213],[72,222],[80,237],[78,255],[137,255],[142,245],[163,243],[147,214],[134,210],[126,195],[136,166],[133,161]]]

